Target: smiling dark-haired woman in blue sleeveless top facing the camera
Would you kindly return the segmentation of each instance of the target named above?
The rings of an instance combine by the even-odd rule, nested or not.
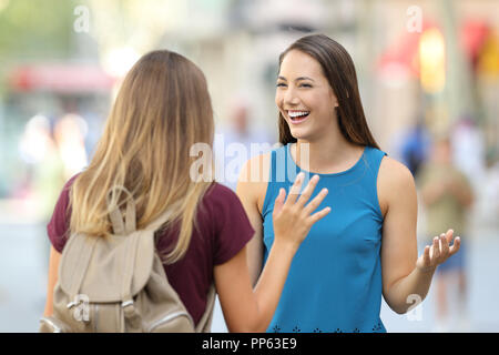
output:
[[[299,246],[267,332],[386,332],[381,294],[395,312],[407,312],[415,295],[425,298],[436,266],[459,240],[449,247],[449,230],[417,257],[413,175],[373,138],[354,62],[338,42],[308,36],[286,49],[275,103],[284,146],[249,160],[237,185],[256,231],[248,243],[253,282],[274,244],[273,201],[292,185],[277,171],[320,175],[317,191],[329,191],[324,205],[332,212]],[[248,182],[261,166],[269,179]]]

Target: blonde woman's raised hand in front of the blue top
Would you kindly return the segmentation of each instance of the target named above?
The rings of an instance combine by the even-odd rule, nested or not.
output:
[[[330,207],[325,207],[312,214],[327,195],[327,189],[323,189],[307,204],[319,180],[318,175],[314,175],[310,179],[304,192],[298,197],[304,179],[305,174],[301,172],[296,176],[287,199],[286,191],[284,189],[279,190],[272,214],[275,241],[291,243],[296,248],[305,240],[312,225],[330,212]]]

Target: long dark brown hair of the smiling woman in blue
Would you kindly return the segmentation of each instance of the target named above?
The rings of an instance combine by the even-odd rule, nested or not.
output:
[[[323,73],[338,99],[336,115],[338,126],[345,139],[354,144],[379,149],[367,125],[354,61],[342,44],[324,34],[312,34],[298,39],[279,55],[279,71],[284,57],[292,50],[298,50],[314,58],[322,67]],[[295,143],[286,120],[279,112],[279,142]]]

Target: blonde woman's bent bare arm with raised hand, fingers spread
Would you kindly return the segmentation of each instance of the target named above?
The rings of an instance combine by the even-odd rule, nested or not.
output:
[[[271,323],[299,244],[312,225],[330,211],[326,207],[314,213],[327,190],[305,205],[317,178],[310,180],[299,197],[298,180],[287,199],[284,189],[281,190],[273,211],[274,243],[254,290],[247,267],[247,246],[228,262],[215,266],[215,285],[230,332],[265,332]]]

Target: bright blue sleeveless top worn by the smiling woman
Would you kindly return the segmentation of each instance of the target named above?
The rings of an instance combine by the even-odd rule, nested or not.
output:
[[[281,187],[289,191],[298,172],[289,144],[272,151],[269,182],[263,205],[264,263],[274,242],[272,212]],[[350,169],[318,174],[310,197],[328,194],[317,207],[332,211],[315,223],[293,258],[267,332],[385,333],[381,306],[383,214],[377,196],[379,164],[386,153],[366,146]]]

